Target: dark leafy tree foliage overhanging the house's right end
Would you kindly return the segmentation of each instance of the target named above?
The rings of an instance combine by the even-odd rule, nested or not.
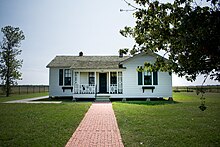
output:
[[[165,51],[168,60],[158,58],[152,70],[172,71],[193,81],[199,74],[220,81],[220,1],[208,0],[208,6],[193,0],[125,1],[136,19],[134,27],[120,33],[135,39],[132,54]]]

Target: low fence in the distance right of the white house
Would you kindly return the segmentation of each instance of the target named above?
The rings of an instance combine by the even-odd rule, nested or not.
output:
[[[206,86],[174,86],[173,92],[196,92],[197,90],[205,92],[220,93],[220,85],[206,85]]]

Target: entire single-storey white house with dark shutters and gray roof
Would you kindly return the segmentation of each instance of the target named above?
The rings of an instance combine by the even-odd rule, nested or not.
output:
[[[49,96],[73,98],[172,97],[168,72],[138,72],[155,53],[134,56],[56,56],[48,65]]]

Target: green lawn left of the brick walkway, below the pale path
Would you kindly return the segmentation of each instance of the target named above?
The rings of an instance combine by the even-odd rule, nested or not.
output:
[[[0,103],[0,146],[63,147],[91,103]]]

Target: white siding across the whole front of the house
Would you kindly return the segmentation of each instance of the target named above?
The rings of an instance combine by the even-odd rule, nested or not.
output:
[[[108,94],[111,98],[157,98],[157,97],[172,97],[172,75],[169,75],[168,72],[158,72],[158,85],[147,85],[154,86],[155,89],[145,89],[143,93],[142,87],[144,85],[138,85],[138,66],[144,66],[144,62],[155,62],[155,56],[139,54],[134,56],[124,62],[123,69],[88,69],[88,70],[71,70],[71,84],[73,84],[74,72],[80,72],[79,84],[88,84],[88,72],[96,72],[96,84],[97,91],[99,91],[99,73],[107,73],[107,91],[109,92],[109,72],[122,72],[122,81],[123,81],[123,93],[122,94]],[[95,94],[74,94],[74,89],[71,92],[70,89],[65,89],[63,91],[62,87],[59,86],[59,69],[68,69],[68,68],[57,68],[50,67],[49,69],[49,96],[50,97],[64,97],[64,96],[73,96],[81,98],[94,98]],[[142,82],[144,83],[144,82]],[[153,78],[152,78],[153,83]],[[73,86],[73,85],[71,85]],[[68,87],[71,87],[68,86]]]

